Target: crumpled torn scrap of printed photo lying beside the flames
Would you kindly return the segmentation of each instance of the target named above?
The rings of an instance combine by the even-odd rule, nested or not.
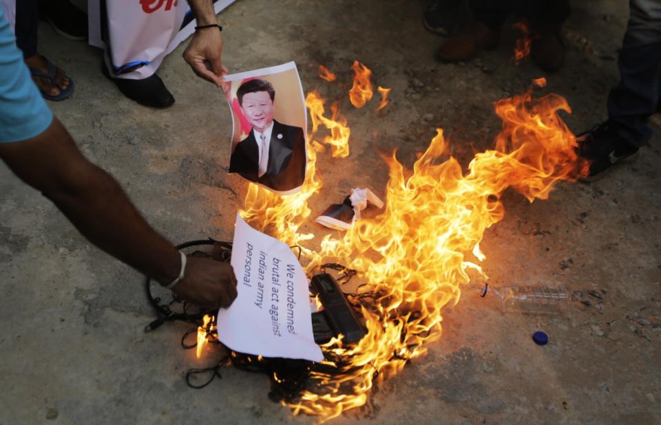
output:
[[[351,189],[351,195],[345,197],[342,204],[331,204],[315,221],[327,228],[348,230],[360,219],[360,212],[367,208],[368,204],[384,208],[384,201],[381,201],[372,190]]]

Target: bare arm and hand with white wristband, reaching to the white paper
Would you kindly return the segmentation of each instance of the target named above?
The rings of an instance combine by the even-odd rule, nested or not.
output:
[[[0,144],[0,158],[105,252],[162,284],[178,276],[176,248],[147,224],[108,173],[83,156],[56,118],[35,138]],[[231,304],[236,296],[231,266],[189,260],[185,278],[174,291],[201,305]]]

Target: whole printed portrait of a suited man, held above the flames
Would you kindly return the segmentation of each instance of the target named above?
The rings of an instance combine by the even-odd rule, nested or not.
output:
[[[230,83],[225,97],[233,123],[229,173],[279,195],[297,193],[305,181],[308,126],[296,64],[230,74],[224,80]]]

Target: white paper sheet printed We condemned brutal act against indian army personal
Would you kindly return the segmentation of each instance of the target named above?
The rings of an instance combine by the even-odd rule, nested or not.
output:
[[[218,312],[218,339],[240,353],[320,362],[308,280],[291,249],[236,215],[232,267],[238,296]]]

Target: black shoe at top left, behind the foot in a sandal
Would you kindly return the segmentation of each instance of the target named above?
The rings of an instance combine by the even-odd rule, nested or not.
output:
[[[39,17],[70,40],[87,40],[87,14],[69,0],[39,0]]]

